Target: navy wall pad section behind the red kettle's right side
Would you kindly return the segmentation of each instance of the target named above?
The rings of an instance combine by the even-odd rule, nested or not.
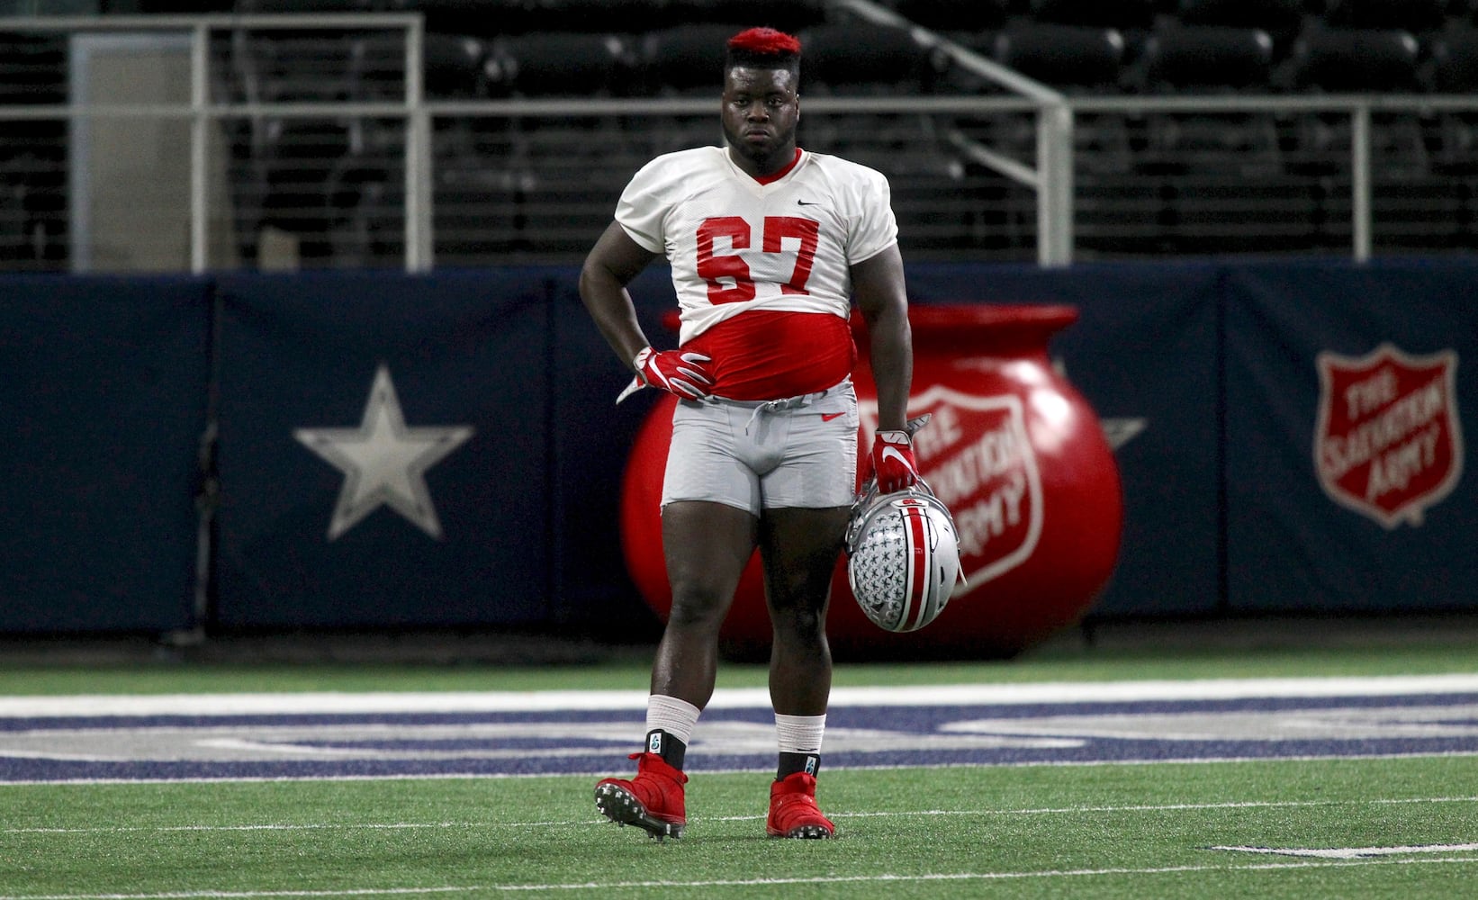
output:
[[[1190,615],[1219,604],[1218,284],[1212,265],[912,266],[910,303],[1079,310],[1049,353],[1117,448],[1125,523],[1095,615]],[[1132,427],[1142,430],[1132,433]]]

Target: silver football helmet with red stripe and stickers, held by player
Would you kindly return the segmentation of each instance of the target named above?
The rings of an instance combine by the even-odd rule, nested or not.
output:
[[[916,631],[944,610],[956,579],[949,507],[922,480],[881,495],[869,483],[847,522],[847,581],[862,612],[885,631]]]

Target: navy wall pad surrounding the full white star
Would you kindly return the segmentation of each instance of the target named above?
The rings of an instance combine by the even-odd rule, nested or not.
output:
[[[550,615],[550,287],[539,270],[220,281],[219,624],[469,625]],[[470,426],[426,471],[442,533],[380,505],[328,538],[344,473],[294,437]]]

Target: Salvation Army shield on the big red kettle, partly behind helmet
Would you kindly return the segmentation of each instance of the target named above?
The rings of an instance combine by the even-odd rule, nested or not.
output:
[[[872,446],[876,402],[863,409],[863,446]],[[909,398],[909,415],[928,412],[913,436],[919,474],[955,517],[959,566],[953,596],[1015,569],[1042,535],[1042,479],[1026,432],[1021,398],[975,396],[931,386]]]

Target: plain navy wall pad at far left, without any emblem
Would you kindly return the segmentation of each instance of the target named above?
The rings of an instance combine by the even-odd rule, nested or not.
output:
[[[0,630],[192,624],[208,294],[0,281]]]

